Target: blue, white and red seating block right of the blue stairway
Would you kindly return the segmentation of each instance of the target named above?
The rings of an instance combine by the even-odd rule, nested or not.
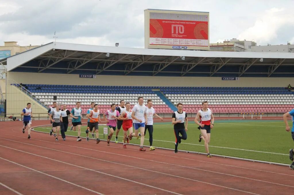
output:
[[[165,88],[163,92],[172,103],[183,103],[187,112],[201,109],[205,100],[217,113],[288,112],[294,107],[293,92],[282,87],[173,87]]]

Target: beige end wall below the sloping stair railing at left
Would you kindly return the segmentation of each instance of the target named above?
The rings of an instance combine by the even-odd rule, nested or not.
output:
[[[6,88],[7,90],[7,99],[6,99],[6,114],[18,114],[14,115],[16,117],[20,117],[20,113],[24,107],[26,107],[27,103],[31,103],[31,108],[33,112],[33,117],[38,117],[39,114],[36,113],[44,113],[40,114],[40,117],[47,117],[47,110],[42,107],[38,102],[32,100],[29,96],[21,92],[18,88],[13,85],[9,85]]]

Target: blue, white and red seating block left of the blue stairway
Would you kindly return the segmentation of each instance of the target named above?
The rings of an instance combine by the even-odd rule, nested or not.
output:
[[[91,102],[99,105],[101,113],[110,109],[112,103],[119,104],[120,100],[130,102],[131,107],[137,104],[138,96],[142,96],[145,102],[148,99],[153,100],[153,107],[157,113],[171,113],[172,110],[163,102],[150,88],[143,87],[125,87],[125,86],[90,86],[90,85],[36,85],[27,84],[27,89],[31,91],[36,98],[52,105],[54,101],[57,104],[66,104],[68,108],[73,108],[76,102],[81,102],[83,112],[86,112]],[[54,100],[56,96],[57,100]]]

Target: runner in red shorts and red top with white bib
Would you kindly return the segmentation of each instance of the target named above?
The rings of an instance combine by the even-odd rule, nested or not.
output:
[[[119,116],[120,120],[123,120],[123,148],[127,148],[126,142],[129,143],[129,139],[132,139],[133,134],[133,120],[132,120],[132,110],[131,104],[126,103],[126,110],[121,113]],[[129,135],[127,135],[127,131],[129,131]]]

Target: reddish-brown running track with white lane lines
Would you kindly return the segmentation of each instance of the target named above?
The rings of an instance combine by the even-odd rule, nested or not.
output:
[[[33,121],[33,126],[48,121]],[[292,194],[288,167],[102,141],[54,141],[0,122],[0,194]],[[181,148],[181,145],[179,146]],[[290,160],[289,160],[290,162]]]

